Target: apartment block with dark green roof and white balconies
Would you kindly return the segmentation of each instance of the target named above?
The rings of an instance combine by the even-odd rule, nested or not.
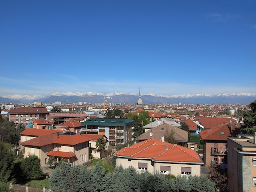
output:
[[[105,135],[109,145],[128,144],[133,141],[133,121],[128,118],[90,118],[81,123],[85,134]]]

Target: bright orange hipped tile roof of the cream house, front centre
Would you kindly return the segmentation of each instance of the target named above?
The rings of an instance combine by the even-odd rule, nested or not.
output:
[[[152,161],[203,163],[195,150],[162,142],[155,138],[125,147],[115,152],[115,156],[127,157],[129,159],[152,159]]]

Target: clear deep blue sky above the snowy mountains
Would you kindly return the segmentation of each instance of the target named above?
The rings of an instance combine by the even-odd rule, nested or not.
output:
[[[0,1],[0,95],[256,93],[256,1]]]

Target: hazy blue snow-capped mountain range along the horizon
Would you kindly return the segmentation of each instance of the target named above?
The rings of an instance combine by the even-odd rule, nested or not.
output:
[[[34,103],[40,101],[42,103],[55,103],[61,101],[62,103],[103,103],[104,97],[108,103],[121,103],[121,104],[135,104],[139,96],[136,94],[124,93],[96,93],[96,92],[56,92],[50,96],[41,95],[7,95],[0,96],[0,103]],[[182,95],[141,95],[144,104],[249,104],[256,100],[256,94],[251,93],[225,93],[225,94],[182,94]]]

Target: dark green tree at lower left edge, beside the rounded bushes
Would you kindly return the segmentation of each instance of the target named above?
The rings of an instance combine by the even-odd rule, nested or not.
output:
[[[14,155],[9,143],[0,142],[0,182],[6,183],[13,179]]]

